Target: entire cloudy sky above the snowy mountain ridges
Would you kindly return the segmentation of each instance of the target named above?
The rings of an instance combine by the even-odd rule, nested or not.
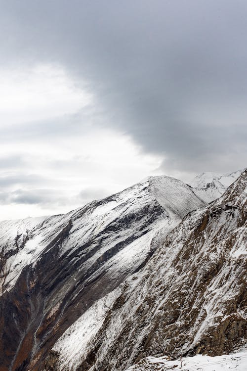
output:
[[[247,159],[246,0],[0,0],[0,219]]]

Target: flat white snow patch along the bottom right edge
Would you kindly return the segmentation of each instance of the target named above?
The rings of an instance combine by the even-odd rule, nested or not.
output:
[[[181,367],[182,362],[182,367]],[[194,357],[182,357],[170,361],[169,357],[146,357],[138,362],[137,365],[131,366],[125,371],[246,371],[247,370],[247,353],[224,354],[217,357],[197,355]]]

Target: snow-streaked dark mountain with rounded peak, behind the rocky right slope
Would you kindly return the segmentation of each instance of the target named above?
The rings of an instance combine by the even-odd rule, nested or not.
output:
[[[65,215],[1,222],[0,371],[43,370],[81,316],[91,313],[98,326],[122,282],[204,205],[189,185],[150,177]],[[93,320],[89,329],[82,323],[87,336]]]

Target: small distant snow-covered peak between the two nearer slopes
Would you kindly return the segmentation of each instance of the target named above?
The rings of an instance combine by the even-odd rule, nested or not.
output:
[[[224,191],[241,175],[241,170],[229,174],[202,173],[189,184],[198,197],[206,203],[220,197]]]

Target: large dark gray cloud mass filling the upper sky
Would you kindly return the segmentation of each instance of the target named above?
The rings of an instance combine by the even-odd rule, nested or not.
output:
[[[88,112],[13,136],[106,127],[163,155],[164,172],[243,168],[246,15],[243,0],[3,1],[1,63],[61,64],[95,96]],[[6,129],[2,136],[11,140]]]

